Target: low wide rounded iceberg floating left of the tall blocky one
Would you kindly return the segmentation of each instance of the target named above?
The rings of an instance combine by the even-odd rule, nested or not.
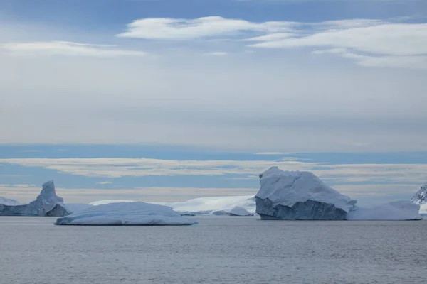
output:
[[[192,225],[198,222],[182,217],[168,206],[145,202],[121,202],[88,207],[83,212],[58,218],[55,224],[154,226]]]

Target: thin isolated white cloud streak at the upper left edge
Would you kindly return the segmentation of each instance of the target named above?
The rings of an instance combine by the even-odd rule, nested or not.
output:
[[[144,55],[142,51],[120,50],[115,45],[46,41],[31,43],[1,43],[0,49],[18,55],[68,55],[90,57],[115,57]]]

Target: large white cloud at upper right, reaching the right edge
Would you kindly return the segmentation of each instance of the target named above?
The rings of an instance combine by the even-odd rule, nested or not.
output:
[[[427,68],[427,23],[384,23],[352,20],[317,23],[317,28],[293,37],[268,38],[253,48],[326,48],[367,67]],[[314,26],[315,27],[315,26]],[[248,39],[251,40],[251,39]]]

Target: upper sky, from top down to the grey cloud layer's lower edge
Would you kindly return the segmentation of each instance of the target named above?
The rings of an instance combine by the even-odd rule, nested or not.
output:
[[[426,150],[422,11],[406,0],[0,0],[0,142]]]

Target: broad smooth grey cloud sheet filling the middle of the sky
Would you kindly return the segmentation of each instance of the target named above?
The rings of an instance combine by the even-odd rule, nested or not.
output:
[[[288,26],[297,34],[304,27]],[[18,27],[0,25],[2,41],[105,42],[104,35],[90,31]],[[144,143],[251,153],[427,149],[424,70],[360,72],[327,54],[307,56],[324,49],[318,47],[238,53],[248,49],[244,45],[263,41],[237,39],[266,33],[239,32],[226,43],[111,38],[117,48],[100,48],[138,50],[144,45],[147,53],[162,54],[159,58],[14,56],[0,48],[0,129],[7,134],[0,143]],[[222,50],[231,52],[226,60],[194,56]],[[349,144],[354,141],[369,146]]]

